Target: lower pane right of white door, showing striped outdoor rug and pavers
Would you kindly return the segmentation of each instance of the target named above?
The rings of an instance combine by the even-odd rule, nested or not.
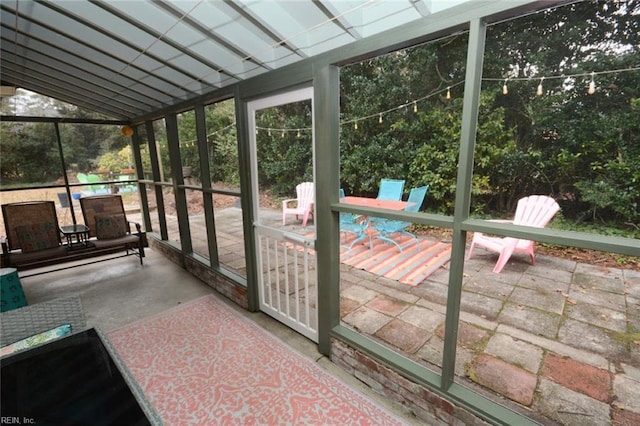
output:
[[[345,218],[340,233],[342,324],[438,371],[444,348],[449,232],[372,218],[364,238],[357,241],[358,234],[346,223]]]

